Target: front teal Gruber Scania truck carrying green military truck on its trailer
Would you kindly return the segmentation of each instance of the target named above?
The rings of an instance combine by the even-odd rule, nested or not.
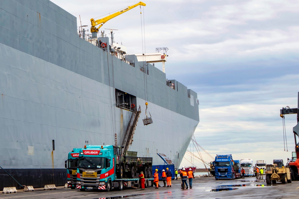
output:
[[[145,176],[145,186],[152,186],[152,158],[137,157],[137,152],[123,152],[122,149],[121,146],[112,145],[88,145],[80,149],[76,189],[111,191],[139,187],[140,181],[136,174],[141,171]]]

